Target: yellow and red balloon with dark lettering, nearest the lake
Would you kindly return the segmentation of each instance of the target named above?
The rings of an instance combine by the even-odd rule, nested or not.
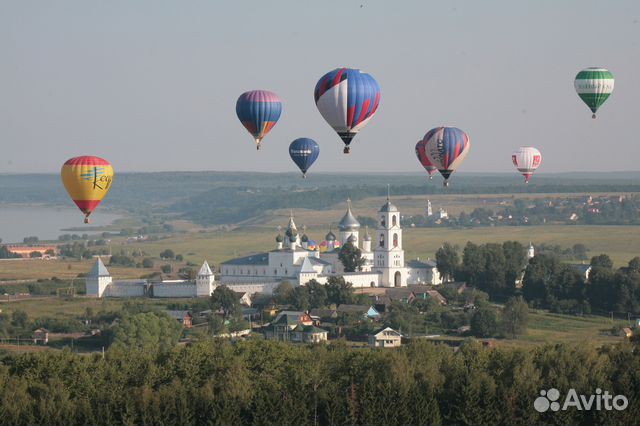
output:
[[[91,155],[74,157],[62,165],[60,177],[69,196],[84,213],[84,223],[89,223],[89,215],[111,188],[111,164]]]

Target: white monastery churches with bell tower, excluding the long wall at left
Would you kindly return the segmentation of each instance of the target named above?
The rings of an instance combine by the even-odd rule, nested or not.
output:
[[[378,211],[376,220],[375,231],[370,233],[365,228],[363,232],[351,202],[347,200],[347,210],[338,224],[338,235],[329,229],[318,244],[306,233],[300,234],[292,215],[284,235],[276,236],[273,250],[223,262],[220,282],[230,287],[255,284],[269,290],[282,280],[298,285],[305,285],[310,280],[326,283],[332,275],[344,276],[356,288],[442,282],[435,262],[413,260],[405,263],[400,211],[389,197]],[[338,254],[346,243],[362,252],[364,265],[360,271],[344,271]]]

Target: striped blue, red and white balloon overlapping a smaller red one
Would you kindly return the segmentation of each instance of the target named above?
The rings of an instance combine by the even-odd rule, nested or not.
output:
[[[424,150],[442,177],[444,186],[449,186],[449,176],[469,152],[469,136],[455,127],[436,127],[429,130],[424,138]]]

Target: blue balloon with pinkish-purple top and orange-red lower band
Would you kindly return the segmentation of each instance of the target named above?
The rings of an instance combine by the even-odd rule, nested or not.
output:
[[[244,92],[236,102],[236,114],[242,125],[256,140],[256,149],[260,142],[276,125],[282,113],[282,101],[268,90]]]

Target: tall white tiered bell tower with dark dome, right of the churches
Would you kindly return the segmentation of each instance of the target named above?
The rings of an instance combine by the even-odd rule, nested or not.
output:
[[[381,282],[384,286],[405,286],[407,277],[404,269],[400,212],[391,204],[388,196],[387,202],[378,211],[378,220],[373,269],[382,273]]]

